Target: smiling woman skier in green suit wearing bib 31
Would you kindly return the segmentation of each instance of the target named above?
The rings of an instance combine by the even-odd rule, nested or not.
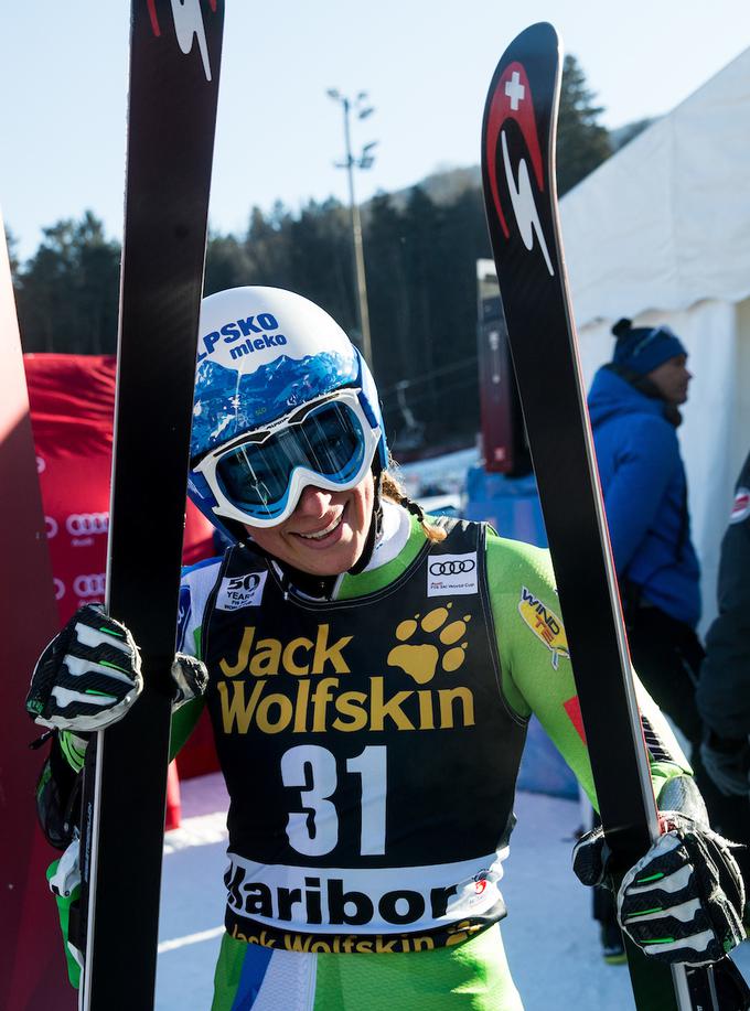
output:
[[[214,1011],[518,1011],[500,882],[532,712],[596,805],[547,552],[425,517],[388,467],[372,377],[326,313],[271,288],[204,301],[190,495],[231,547],[184,573],[173,670],[182,701],[196,660],[207,688],[173,745],[206,705],[231,797]],[[127,630],[79,612],[30,692],[53,764],[79,765],[82,732],[127,719],[140,685]],[[743,936],[741,878],[639,691],[671,831],[621,921],[654,958],[712,961]],[[579,876],[604,864],[585,837]]]

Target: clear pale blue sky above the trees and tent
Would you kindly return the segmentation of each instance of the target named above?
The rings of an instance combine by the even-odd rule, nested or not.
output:
[[[144,0],[143,0],[144,2]],[[330,87],[366,90],[355,122],[357,197],[479,162],[486,88],[507,42],[551,21],[622,126],[669,111],[750,45],[748,0],[226,0],[211,202],[215,230],[240,234],[277,198],[346,200],[341,107]],[[23,0],[0,18],[0,206],[31,255],[40,229],[90,207],[122,218],[128,0]],[[743,129],[747,129],[747,125]]]

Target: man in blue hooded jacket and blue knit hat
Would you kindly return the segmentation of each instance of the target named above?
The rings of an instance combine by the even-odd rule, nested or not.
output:
[[[692,378],[687,352],[666,326],[633,327],[630,320],[620,320],[612,333],[612,361],[597,372],[588,404],[631,657],[649,691],[693,745],[703,789],[695,699],[704,656],[695,633],[700,569],[677,441],[679,407]],[[708,786],[706,793],[714,796]],[[600,891],[594,917],[602,924],[604,958],[624,960],[609,896]]]

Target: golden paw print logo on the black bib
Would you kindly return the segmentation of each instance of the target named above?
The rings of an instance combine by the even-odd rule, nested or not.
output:
[[[467,656],[467,643],[461,642],[471,615],[449,621],[450,607],[436,607],[421,619],[418,614],[406,619],[396,627],[400,645],[388,654],[388,666],[400,667],[418,685],[427,685],[435,677],[438,666],[448,674],[458,670]],[[429,636],[431,642],[411,642],[417,633]],[[417,636],[422,638],[422,636]]]

